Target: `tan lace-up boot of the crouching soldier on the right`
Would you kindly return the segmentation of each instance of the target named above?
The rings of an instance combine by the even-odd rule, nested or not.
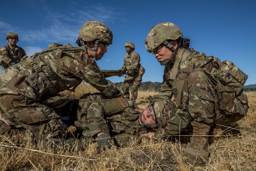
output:
[[[191,125],[193,126],[193,136],[190,138],[190,143],[182,158],[193,166],[204,166],[210,155],[207,136],[210,126],[196,121],[192,121]]]

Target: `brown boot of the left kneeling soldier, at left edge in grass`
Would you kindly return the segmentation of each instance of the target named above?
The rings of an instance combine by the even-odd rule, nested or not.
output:
[[[12,129],[11,126],[0,120],[0,142],[8,142],[9,140],[16,145],[26,145],[28,140],[25,137],[25,131]]]

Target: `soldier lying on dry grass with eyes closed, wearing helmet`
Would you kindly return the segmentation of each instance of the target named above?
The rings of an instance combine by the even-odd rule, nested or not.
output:
[[[104,99],[99,93],[84,94],[79,100],[78,121],[74,124],[85,137],[96,138],[99,147],[106,149],[115,144],[127,146],[132,137],[158,127],[165,127],[176,112],[173,101],[157,99],[140,112],[133,100],[127,98]],[[119,142],[120,141],[120,142]]]

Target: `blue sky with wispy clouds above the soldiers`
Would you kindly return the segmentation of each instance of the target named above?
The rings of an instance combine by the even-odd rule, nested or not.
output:
[[[164,67],[148,53],[144,40],[151,27],[172,22],[190,38],[190,47],[221,61],[229,60],[248,76],[245,85],[256,84],[256,1],[2,1],[0,46],[8,32],[19,36],[18,46],[27,55],[48,48],[51,42],[76,46],[84,23],[97,20],[113,32],[113,44],[97,61],[101,69],[121,69],[124,44],[132,41],[146,69],[143,82],[162,82]],[[109,77],[120,82],[124,77]]]

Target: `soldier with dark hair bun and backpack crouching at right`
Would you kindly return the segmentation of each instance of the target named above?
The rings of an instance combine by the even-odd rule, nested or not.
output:
[[[165,65],[162,88],[152,100],[170,99],[174,95],[177,111],[165,128],[144,135],[177,135],[191,124],[193,137],[183,159],[203,166],[210,154],[207,136],[210,126],[234,123],[246,115],[249,106],[242,87],[248,76],[231,62],[223,63],[216,57],[188,49],[189,41],[170,22],[152,27],[147,35],[147,51]],[[226,72],[227,66],[233,68]],[[224,82],[225,79],[228,80]]]

